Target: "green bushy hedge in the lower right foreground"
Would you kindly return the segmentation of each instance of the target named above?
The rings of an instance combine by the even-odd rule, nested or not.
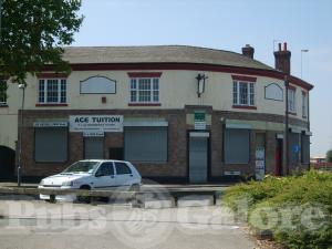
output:
[[[230,187],[222,200],[238,211],[240,196],[250,197],[249,225],[257,230],[267,229],[258,226],[255,216],[264,210],[259,221],[272,220],[268,230],[288,248],[332,248],[332,174],[309,172],[298,177],[267,177],[260,183]],[[310,226],[304,226],[305,219]]]

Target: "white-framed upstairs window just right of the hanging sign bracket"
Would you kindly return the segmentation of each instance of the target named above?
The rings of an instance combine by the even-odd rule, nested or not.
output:
[[[247,103],[241,103],[240,85],[247,85]],[[232,104],[241,106],[256,106],[256,84],[249,81],[232,81]]]

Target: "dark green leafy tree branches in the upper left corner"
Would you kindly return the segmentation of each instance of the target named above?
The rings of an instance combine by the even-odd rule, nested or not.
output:
[[[41,72],[44,64],[69,71],[62,60],[83,17],[81,0],[0,0],[0,79],[24,83],[27,73]]]

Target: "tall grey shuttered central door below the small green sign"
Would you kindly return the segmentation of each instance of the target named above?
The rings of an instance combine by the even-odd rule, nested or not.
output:
[[[206,183],[209,133],[189,133],[189,181]]]

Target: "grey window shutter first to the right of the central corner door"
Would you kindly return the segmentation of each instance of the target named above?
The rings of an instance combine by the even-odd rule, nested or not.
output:
[[[226,164],[249,163],[250,131],[245,128],[226,128],[224,152]]]

